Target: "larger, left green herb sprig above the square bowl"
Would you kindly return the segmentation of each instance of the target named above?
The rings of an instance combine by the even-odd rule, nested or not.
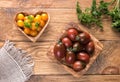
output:
[[[99,5],[96,4],[96,0],[93,0],[91,8],[86,8],[85,11],[82,11],[79,2],[77,2],[76,11],[78,20],[83,25],[86,26],[96,25],[100,27],[101,30],[103,30],[101,16],[109,13],[108,6],[109,3],[104,2],[103,0],[100,1]]]

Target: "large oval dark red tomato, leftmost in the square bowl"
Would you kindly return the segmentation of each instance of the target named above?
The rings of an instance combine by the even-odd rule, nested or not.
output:
[[[56,44],[54,46],[54,56],[57,60],[61,60],[66,55],[65,46],[62,43]]]

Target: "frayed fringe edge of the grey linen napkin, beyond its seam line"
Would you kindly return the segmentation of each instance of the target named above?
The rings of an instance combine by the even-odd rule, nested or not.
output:
[[[5,41],[3,48],[8,52],[8,54],[14,59],[17,65],[20,67],[24,75],[26,76],[26,81],[33,74],[34,61],[30,54],[26,51],[16,48],[15,44],[9,40]]]

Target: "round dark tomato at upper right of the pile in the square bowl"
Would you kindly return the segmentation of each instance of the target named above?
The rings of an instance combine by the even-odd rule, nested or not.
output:
[[[86,32],[80,33],[78,35],[78,40],[81,44],[87,44],[90,41],[90,35]]]

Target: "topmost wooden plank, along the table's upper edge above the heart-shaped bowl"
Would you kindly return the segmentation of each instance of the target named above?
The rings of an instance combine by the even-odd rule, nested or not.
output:
[[[90,7],[92,0],[77,0],[81,7]],[[110,0],[105,0],[110,2]],[[97,0],[99,2],[99,0]],[[41,8],[75,8],[76,0],[1,0],[0,7],[41,7]]]

